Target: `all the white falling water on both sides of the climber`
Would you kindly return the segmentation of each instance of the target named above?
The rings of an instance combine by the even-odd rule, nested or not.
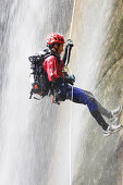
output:
[[[70,172],[72,170],[73,176],[76,168],[78,138],[86,126],[88,112],[84,112],[86,119],[83,120],[84,109],[81,104],[72,106],[72,112],[67,114],[70,102],[58,108],[49,99],[44,99],[41,103],[28,100],[27,57],[45,46],[47,34],[53,30],[52,16],[56,15],[51,4],[52,2],[38,0],[14,0],[10,8],[9,65],[4,76],[0,124],[0,185],[67,185],[72,181]],[[74,69],[76,86],[93,90],[111,1],[107,3],[106,0],[87,0],[79,9],[83,10],[83,34],[79,38],[81,48],[76,44],[74,47],[77,55]],[[51,17],[49,12],[52,12]],[[48,21],[52,23],[49,27]],[[56,30],[60,32],[60,25]],[[64,30],[65,28],[62,32]],[[60,109],[62,111],[59,121]]]

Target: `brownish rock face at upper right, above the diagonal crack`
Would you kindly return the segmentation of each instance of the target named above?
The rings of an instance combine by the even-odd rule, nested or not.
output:
[[[118,62],[123,60],[123,1],[115,0],[111,15],[111,27],[106,38],[107,52],[102,62],[100,79]],[[121,61],[123,62],[123,61]]]

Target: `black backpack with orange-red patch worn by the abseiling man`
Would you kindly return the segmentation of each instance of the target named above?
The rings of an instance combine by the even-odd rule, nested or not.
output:
[[[38,94],[41,98],[48,95],[50,90],[50,82],[48,79],[47,72],[44,70],[44,61],[47,57],[51,55],[50,50],[45,49],[40,53],[30,55],[28,60],[30,61],[30,83],[33,94]]]

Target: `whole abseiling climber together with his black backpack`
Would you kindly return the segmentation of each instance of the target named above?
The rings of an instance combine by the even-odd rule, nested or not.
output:
[[[65,49],[64,49],[65,45]],[[42,52],[29,57],[33,76],[30,97],[38,94],[41,97],[52,96],[54,103],[71,100],[76,103],[86,104],[90,114],[97,123],[102,127],[104,136],[111,135],[122,128],[122,125],[108,124],[103,116],[110,121],[116,121],[122,112],[122,106],[115,110],[108,111],[87,90],[74,87],[75,76],[69,75],[64,67],[70,62],[73,41],[69,39],[66,42],[60,34],[52,34],[47,38],[47,49]],[[63,58],[61,53],[64,50]]]

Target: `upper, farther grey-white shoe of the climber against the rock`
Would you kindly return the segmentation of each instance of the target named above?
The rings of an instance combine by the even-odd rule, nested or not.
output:
[[[116,109],[111,111],[111,119],[110,122],[112,123],[118,123],[119,122],[119,116],[121,115],[122,112],[122,106],[119,106]]]

